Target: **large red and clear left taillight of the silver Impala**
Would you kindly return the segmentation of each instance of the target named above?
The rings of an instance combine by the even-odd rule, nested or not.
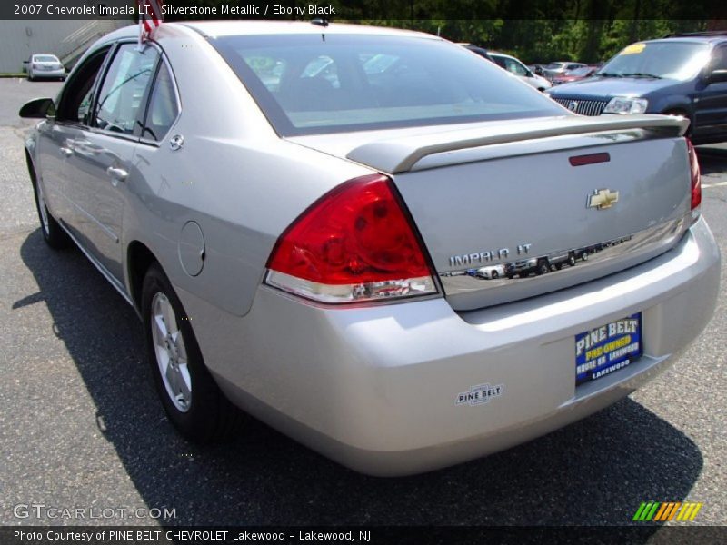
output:
[[[267,267],[269,284],[322,302],[436,292],[422,245],[381,174],[326,193],[281,235]]]

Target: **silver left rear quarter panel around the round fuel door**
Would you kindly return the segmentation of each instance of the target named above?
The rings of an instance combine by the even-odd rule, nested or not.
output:
[[[124,244],[144,243],[175,286],[244,315],[284,229],[336,184],[371,171],[281,140],[214,48],[194,31],[171,26],[157,39],[173,68],[182,113],[158,147],[138,147]],[[177,151],[169,146],[175,134],[184,136]],[[194,277],[178,253],[189,221],[200,225],[205,244],[204,268]]]

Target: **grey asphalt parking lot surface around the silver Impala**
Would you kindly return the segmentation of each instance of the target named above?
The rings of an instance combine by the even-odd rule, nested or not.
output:
[[[727,524],[724,266],[716,315],[669,371],[483,460],[379,479],[257,422],[225,445],[181,440],[134,311],[79,251],[52,252],[39,231],[22,145],[32,124],[16,113],[59,88],[0,79],[0,524],[158,524],[149,515],[167,510],[172,524],[621,525],[646,500],[702,502],[695,523]],[[702,213],[727,254],[727,145],[699,156]],[[22,507],[33,504],[45,507]],[[49,510],[70,507],[86,519]],[[89,520],[91,508],[109,516]]]

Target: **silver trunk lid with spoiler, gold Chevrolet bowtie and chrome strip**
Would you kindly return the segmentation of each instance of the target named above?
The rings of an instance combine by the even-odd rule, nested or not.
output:
[[[567,116],[293,140],[392,176],[471,310],[642,263],[689,227],[686,122]]]

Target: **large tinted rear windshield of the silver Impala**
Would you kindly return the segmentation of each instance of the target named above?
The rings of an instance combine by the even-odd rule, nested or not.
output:
[[[482,57],[429,38],[212,38],[278,134],[322,134],[560,115]]]

